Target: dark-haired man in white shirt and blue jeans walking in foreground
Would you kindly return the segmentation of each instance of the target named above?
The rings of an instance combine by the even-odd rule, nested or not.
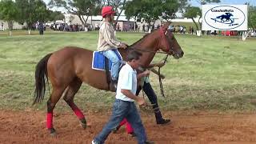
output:
[[[104,126],[102,132],[94,138],[92,144],[102,144],[107,136],[114,130],[123,118],[126,118],[134,128],[134,134],[139,144],[153,143],[147,141],[146,132],[142,125],[142,120],[134,101],[139,105],[146,104],[144,98],[136,96],[137,78],[146,77],[150,74],[149,70],[137,75],[136,69],[140,66],[139,58],[142,56],[138,51],[132,51],[128,54],[128,62],[119,73],[117,94],[112,110],[110,121]]]

